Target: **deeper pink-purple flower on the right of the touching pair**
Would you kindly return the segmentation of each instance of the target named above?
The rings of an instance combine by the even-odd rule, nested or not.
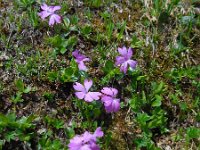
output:
[[[117,112],[120,109],[120,99],[117,99],[117,89],[111,87],[104,87],[101,92],[103,96],[101,101],[104,103],[107,113]]]

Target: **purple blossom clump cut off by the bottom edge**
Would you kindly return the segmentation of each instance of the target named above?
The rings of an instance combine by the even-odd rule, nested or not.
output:
[[[85,131],[82,135],[76,135],[68,144],[69,150],[100,150],[96,144],[97,138],[103,136],[101,127],[98,127],[94,134]]]

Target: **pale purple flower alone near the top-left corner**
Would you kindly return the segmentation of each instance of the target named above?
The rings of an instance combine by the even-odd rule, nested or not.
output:
[[[47,4],[41,5],[42,11],[38,15],[44,20],[50,16],[49,25],[53,26],[55,23],[61,23],[61,17],[55,14],[56,10],[60,10],[60,6],[48,6]]]

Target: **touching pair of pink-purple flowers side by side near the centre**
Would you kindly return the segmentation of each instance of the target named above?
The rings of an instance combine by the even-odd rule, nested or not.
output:
[[[117,99],[118,90],[112,87],[104,87],[101,92],[90,92],[92,80],[85,80],[83,84],[75,82],[75,95],[78,99],[84,99],[86,102],[101,99],[107,113],[117,112],[120,109],[120,99]]]

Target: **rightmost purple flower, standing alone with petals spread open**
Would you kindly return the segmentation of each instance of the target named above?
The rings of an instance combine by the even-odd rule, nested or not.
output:
[[[135,69],[137,61],[131,60],[133,51],[131,48],[127,49],[125,46],[123,48],[118,48],[118,52],[121,56],[116,57],[116,65],[120,65],[120,71],[126,73],[128,70],[128,65],[130,68]]]

